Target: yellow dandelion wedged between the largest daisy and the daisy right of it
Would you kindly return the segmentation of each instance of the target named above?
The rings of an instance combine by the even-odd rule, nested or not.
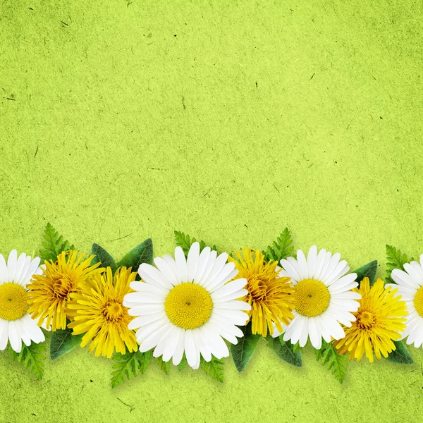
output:
[[[247,279],[248,294],[242,299],[251,305],[247,312],[252,321],[252,333],[272,335],[274,325],[282,332],[282,324],[288,324],[294,318],[292,310],[295,307],[295,288],[291,286],[290,278],[278,277],[277,262],[266,263],[264,255],[259,250],[243,248],[242,254],[236,252],[237,259],[229,257],[238,269],[237,278]]]

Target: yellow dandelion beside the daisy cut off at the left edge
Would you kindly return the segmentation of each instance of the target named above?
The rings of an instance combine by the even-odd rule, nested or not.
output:
[[[85,281],[104,269],[99,263],[90,266],[94,256],[83,260],[84,255],[78,251],[61,252],[57,261],[44,262],[45,269],[41,275],[34,275],[27,288],[30,289],[28,303],[32,319],[38,319],[38,325],[51,326],[52,331],[66,329],[66,305],[69,296],[77,292]]]

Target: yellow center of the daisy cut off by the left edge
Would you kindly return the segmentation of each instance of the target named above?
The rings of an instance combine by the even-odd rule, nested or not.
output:
[[[25,316],[28,309],[27,290],[18,283],[0,285],[0,318],[18,320]]]

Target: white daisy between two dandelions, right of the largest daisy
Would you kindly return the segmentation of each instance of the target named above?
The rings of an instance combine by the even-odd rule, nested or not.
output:
[[[279,276],[288,276],[296,288],[294,319],[288,326],[283,326],[283,341],[295,344],[300,341],[303,347],[310,339],[314,348],[321,348],[321,338],[331,342],[331,338],[341,339],[345,332],[341,324],[351,326],[355,321],[352,312],[356,312],[361,298],[352,292],[358,286],[357,274],[345,275],[350,267],[341,255],[320,250],[313,245],[305,258],[298,250],[297,259],[288,257],[281,260],[283,270]],[[345,276],[344,276],[345,275]],[[275,328],[276,329],[276,328]],[[281,335],[276,331],[274,337]]]

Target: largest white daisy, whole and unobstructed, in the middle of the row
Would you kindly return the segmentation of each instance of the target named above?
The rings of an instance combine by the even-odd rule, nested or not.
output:
[[[172,358],[175,365],[185,352],[193,369],[200,366],[200,354],[207,362],[212,355],[228,357],[222,338],[238,343],[243,331],[235,325],[248,320],[242,310],[250,310],[250,305],[238,300],[247,294],[247,279],[231,281],[238,274],[235,264],[226,262],[226,252],[216,256],[210,247],[200,254],[200,244],[193,243],[188,259],[176,247],[175,259],[156,257],[157,268],[140,265],[142,281],[130,283],[137,292],[126,294],[123,305],[130,316],[137,316],[128,327],[137,329],[141,352],[155,347],[154,357],[162,355],[165,362]]]

